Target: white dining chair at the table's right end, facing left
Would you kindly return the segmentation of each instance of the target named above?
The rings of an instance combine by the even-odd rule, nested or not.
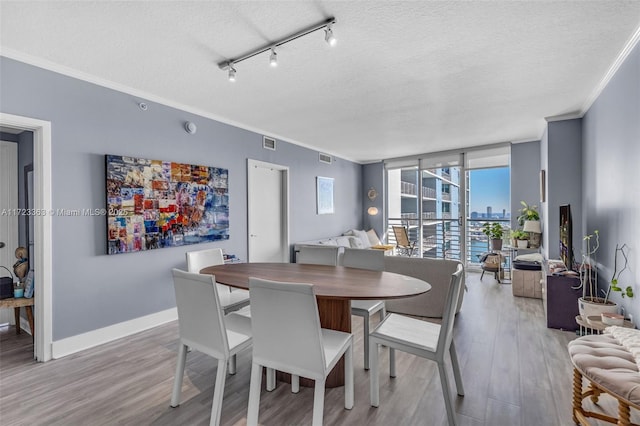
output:
[[[447,420],[449,425],[455,426],[456,418],[453,400],[449,386],[449,378],[444,366],[445,353],[451,355],[453,376],[456,381],[458,395],[464,396],[460,364],[453,344],[453,323],[456,314],[456,304],[462,291],[462,265],[458,265],[456,272],[451,275],[451,283],[447,293],[442,325],[433,324],[416,318],[399,314],[389,314],[369,336],[371,345],[371,372],[369,374],[371,405],[380,404],[378,347],[389,347],[389,376],[396,376],[395,350],[401,350],[422,358],[430,359],[438,364],[442,393],[444,395]]]

